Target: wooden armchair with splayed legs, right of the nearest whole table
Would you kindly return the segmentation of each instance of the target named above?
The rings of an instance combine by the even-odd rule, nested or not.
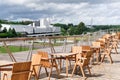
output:
[[[89,67],[89,62],[90,62],[91,56],[92,56],[92,51],[88,51],[87,53],[84,53],[84,57],[79,57],[79,56],[76,57],[76,62],[74,64],[74,68],[72,71],[72,76],[73,76],[73,73],[75,72],[75,69],[77,66],[80,67],[83,77],[85,77],[85,73],[83,70],[84,67],[87,67],[89,74],[91,75],[91,71],[90,71],[90,67]]]

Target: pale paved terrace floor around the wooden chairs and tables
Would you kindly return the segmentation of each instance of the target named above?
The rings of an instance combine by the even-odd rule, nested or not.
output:
[[[68,47],[68,46],[67,46]],[[60,47],[56,47],[56,49],[59,49]],[[69,48],[70,49],[70,46]],[[45,51],[49,51],[49,48],[42,49]],[[36,53],[37,50],[34,50],[32,53]],[[25,52],[17,52],[14,53],[15,58],[18,61],[25,61],[27,58],[28,51]],[[102,64],[99,65],[91,65],[91,73],[90,76],[88,74],[88,71],[86,70],[86,80],[120,80],[120,45],[118,48],[118,54],[115,54],[115,51],[112,51],[112,58],[113,58],[113,64],[110,64],[109,61],[105,61]],[[0,54],[0,64],[2,64],[4,61],[10,61],[10,58],[8,54]],[[72,64],[72,66],[74,63]],[[40,79],[39,80],[48,80],[48,77],[45,74],[44,68],[41,71]],[[65,73],[65,63],[62,68],[62,72],[60,73],[60,79],[57,78],[56,71],[54,70],[51,76],[51,80],[85,80],[85,78],[82,77],[81,73],[74,74],[73,77],[71,77],[72,69],[69,67],[69,77],[66,77]]]

